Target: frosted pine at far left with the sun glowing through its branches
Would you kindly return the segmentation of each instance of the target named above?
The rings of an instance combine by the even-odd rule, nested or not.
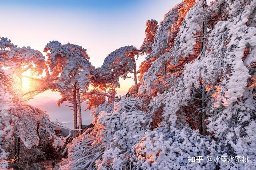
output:
[[[44,129],[49,134],[50,138],[54,136],[54,132],[48,126],[50,122],[48,114],[26,102],[35,95],[34,92],[43,91],[40,83],[38,83],[37,87],[32,86],[31,91],[26,92],[22,89],[22,78],[24,77],[22,73],[30,70],[32,75],[38,76],[42,74],[44,68],[46,68],[44,56],[39,51],[35,51],[30,47],[19,48],[13,45],[7,38],[1,38],[0,66],[0,159],[1,169],[6,169],[8,167],[7,158],[9,160],[12,159],[12,163],[15,163],[20,160],[20,157],[24,156],[24,153],[20,152],[21,144],[28,149],[38,145],[39,125],[40,129]],[[35,79],[42,82],[40,78]],[[30,96],[27,96],[28,94]],[[11,139],[13,138],[14,146],[11,147]],[[10,151],[14,155],[6,152],[8,148],[14,149]],[[14,166],[16,165],[14,164]]]

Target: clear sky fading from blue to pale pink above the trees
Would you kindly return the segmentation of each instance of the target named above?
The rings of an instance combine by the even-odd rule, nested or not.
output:
[[[90,62],[99,67],[109,53],[122,46],[134,45],[139,48],[145,37],[146,21],[155,19],[160,22],[164,14],[180,2],[181,0],[0,0],[0,35],[8,37],[18,47],[30,46],[42,53],[44,46],[52,40],[80,45],[87,49]],[[140,57],[137,66],[143,60],[144,57]],[[119,94],[127,91],[133,84],[132,79],[120,80],[121,88],[117,89]],[[40,105],[42,98],[42,103],[56,102],[58,94],[46,92],[39,97],[40,100],[32,102],[46,109],[51,119],[72,120],[71,113],[70,117],[62,120],[57,109],[51,110],[47,104]]]

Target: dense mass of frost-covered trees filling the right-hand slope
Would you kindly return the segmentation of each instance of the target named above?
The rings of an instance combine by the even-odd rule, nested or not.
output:
[[[122,98],[114,109],[108,102],[98,106],[94,129],[82,135],[91,135],[90,144],[81,140],[70,145],[76,148],[69,155],[70,169],[252,169],[255,3],[191,0],[172,8],[145,48],[152,51],[140,66],[137,98]],[[140,110],[145,113],[139,115],[146,124],[136,121],[138,111],[128,114],[137,100],[143,101]],[[127,127],[126,119],[144,129]],[[134,132],[141,135],[126,139]],[[88,148],[96,143],[98,152]],[[81,146],[86,148],[78,151]],[[207,156],[246,155],[251,158],[246,163],[206,162]],[[204,160],[188,162],[189,156]],[[83,160],[86,164],[80,166]]]

